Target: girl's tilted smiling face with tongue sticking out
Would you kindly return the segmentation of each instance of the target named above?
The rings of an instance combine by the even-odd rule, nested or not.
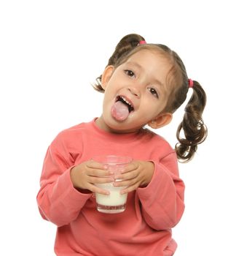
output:
[[[168,102],[169,70],[168,61],[150,50],[138,51],[117,69],[107,67],[102,79],[103,114],[98,118],[101,128],[134,132],[154,122]]]

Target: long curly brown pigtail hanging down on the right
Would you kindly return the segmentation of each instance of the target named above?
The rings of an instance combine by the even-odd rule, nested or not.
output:
[[[200,83],[192,81],[192,97],[186,105],[184,118],[178,126],[176,137],[176,154],[178,159],[188,162],[194,157],[197,151],[197,145],[203,143],[207,137],[207,127],[202,118],[203,110],[206,104],[206,95]],[[181,138],[181,132],[184,132],[184,138]]]

